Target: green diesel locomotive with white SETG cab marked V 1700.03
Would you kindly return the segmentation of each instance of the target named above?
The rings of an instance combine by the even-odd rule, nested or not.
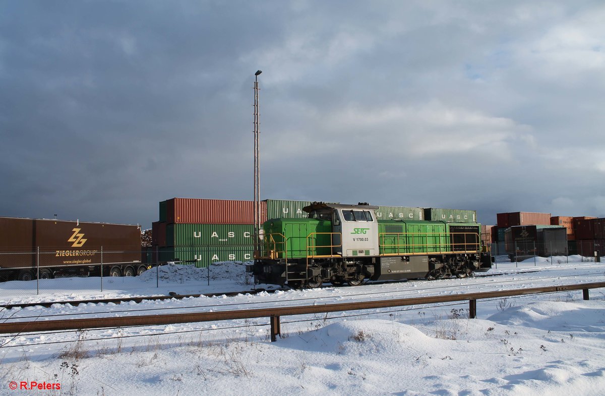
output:
[[[377,208],[316,202],[304,208],[307,219],[268,220],[246,269],[257,284],[319,287],[465,278],[491,268],[479,224],[378,220]]]

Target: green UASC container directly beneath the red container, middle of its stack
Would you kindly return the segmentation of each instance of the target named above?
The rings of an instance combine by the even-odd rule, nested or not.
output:
[[[250,224],[169,224],[167,246],[252,246]]]

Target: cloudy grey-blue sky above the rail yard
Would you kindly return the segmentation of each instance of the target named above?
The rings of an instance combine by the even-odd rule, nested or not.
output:
[[[605,3],[0,0],[0,216],[172,197],[605,216]]]

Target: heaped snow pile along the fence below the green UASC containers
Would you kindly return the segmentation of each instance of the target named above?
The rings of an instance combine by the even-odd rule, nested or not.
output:
[[[246,264],[241,261],[212,263],[209,268],[198,268],[192,264],[168,263],[143,272],[139,279],[143,282],[155,282],[159,278],[165,283],[190,283],[208,281],[227,281],[235,284],[252,283],[246,274]],[[248,279],[248,280],[246,280]]]

